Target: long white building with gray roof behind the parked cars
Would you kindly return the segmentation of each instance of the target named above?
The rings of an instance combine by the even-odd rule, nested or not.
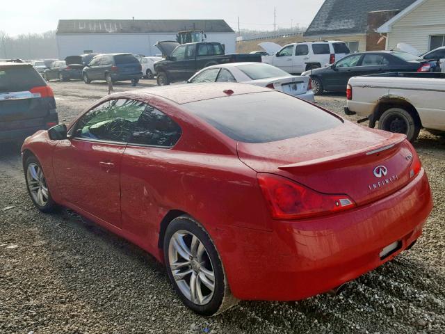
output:
[[[223,19],[60,19],[56,31],[58,58],[85,53],[145,54],[161,51],[160,40],[176,40],[178,31],[202,30],[207,41],[236,49],[236,34]]]

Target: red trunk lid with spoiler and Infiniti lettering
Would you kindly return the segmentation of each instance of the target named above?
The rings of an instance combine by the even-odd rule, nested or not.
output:
[[[346,194],[357,205],[401,189],[412,163],[404,135],[350,122],[284,141],[238,142],[238,157],[257,172],[289,177],[321,193]]]

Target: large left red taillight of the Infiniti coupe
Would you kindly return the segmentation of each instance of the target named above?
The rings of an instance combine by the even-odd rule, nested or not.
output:
[[[318,193],[278,175],[257,174],[259,186],[275,219],[324,216],[355,207],[346,195]]]

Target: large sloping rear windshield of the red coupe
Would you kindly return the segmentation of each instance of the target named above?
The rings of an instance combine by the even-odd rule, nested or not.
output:
[[[275,91],[185,104],[234,141],[267,143],[337,127],[341,120],[296,97]]]

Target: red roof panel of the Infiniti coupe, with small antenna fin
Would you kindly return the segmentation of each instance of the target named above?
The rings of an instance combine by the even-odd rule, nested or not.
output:
[[[228,95],[225,90],[232,90]],[[137,93],[156,95],[163,97],[177,104],[186,104],[202,100],[211,100],[218,97],[230,97],[235,95],[270,92],[270,88],[263,88],[248,84],[236,84],[233,82],[217,82],[204,84],[177,84],[169,86],[157,86],[152,88],[143,88]],[[132,90],[131,94],[135,91]]]

